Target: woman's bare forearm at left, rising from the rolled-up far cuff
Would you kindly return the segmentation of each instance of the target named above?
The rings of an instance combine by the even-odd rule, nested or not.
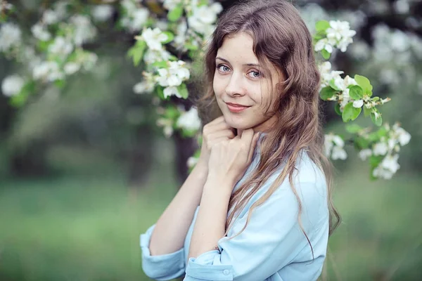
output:
[[[155,225],[149,246],[152,256],[170,254],[183,247],[206,179],[207,166],[198,162]]]

